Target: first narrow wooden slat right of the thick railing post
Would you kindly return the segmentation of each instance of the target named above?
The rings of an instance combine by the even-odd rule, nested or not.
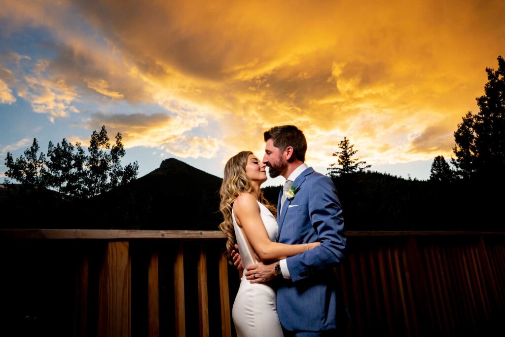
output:
[[[158,252],[152,252],[147,268],[147,334],[149,337],[160,335],[160,293],[158,275]]]

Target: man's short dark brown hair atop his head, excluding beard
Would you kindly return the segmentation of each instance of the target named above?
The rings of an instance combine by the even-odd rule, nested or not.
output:
[[[305,162],[307,140],[304,133],[294,125],[274,126],[263,134],[265,141],[272,138],[274,147],[284,152],[288,146],[293,147],[296,159]]]

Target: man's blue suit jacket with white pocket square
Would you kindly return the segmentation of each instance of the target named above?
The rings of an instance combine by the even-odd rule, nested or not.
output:
[[[292,185],[299,190],[293,199],[286,199],[282,211],[282,190],[279,194],[277,242],[321,245],[287,258],[291,280],[283,280],[277,290],[279,320],[291,331],[338,329],[350,317],[334,269],[344,258],[346,244],[335,185],[312,167]]]

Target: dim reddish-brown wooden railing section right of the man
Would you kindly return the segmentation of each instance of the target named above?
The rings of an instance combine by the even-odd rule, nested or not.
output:
[[[496,335],[505,314],[505,232],[348,236],[340,276],[349,335]]]

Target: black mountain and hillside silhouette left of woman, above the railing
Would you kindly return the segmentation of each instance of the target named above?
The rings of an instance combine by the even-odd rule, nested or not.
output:
[[[222,179],[174,158],[101,195],[78,201],[53,190],[0,186],[3,228],[217,230]]]

